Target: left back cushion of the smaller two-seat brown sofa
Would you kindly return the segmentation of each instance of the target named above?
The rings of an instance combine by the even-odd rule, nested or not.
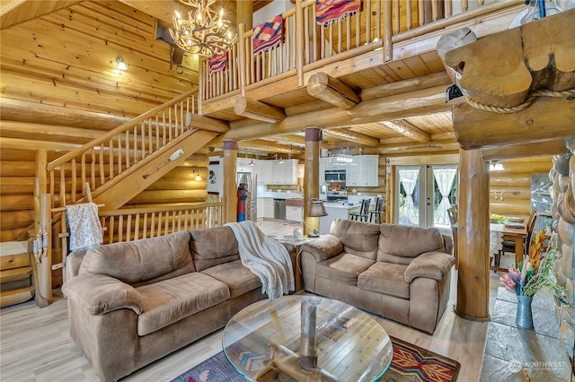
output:
[[[330,233],[341,240],[345,252],[376,260],[379,224],[335,219]]]

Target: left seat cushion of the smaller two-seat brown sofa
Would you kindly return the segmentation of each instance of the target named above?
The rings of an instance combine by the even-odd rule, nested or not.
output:
[[[362,256],[342,253],[318,263],[316,274],[336,282],[357,285],[358,275],[365,272],[375,261]]]

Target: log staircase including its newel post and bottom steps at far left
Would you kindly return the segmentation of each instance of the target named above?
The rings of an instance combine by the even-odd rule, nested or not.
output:
[[[196,122],[201,120],[193,117],[198,109],[197,92],[195,88],[183,93],[56,161],[48,163],[46,152],[37,156],[39,168],[45,163],[47,170],[36,179],[34,231],[49,232],[50,237],[48,252],[39,263],[41,266],[30,271],[36,297],[41,295],[36,301],[40,307],[47,306],[51,300],[51,271],[65,266],[67,234],[61,212],[66,204],[92,200],[101,206],[102,213],[117,210],[226,131],[227,126],[213,127]],[[57,239],[61,239],[59,243]],[[62,263],[53,264],[52,251],[61,253],[57,257]],[[6,273],[5,277],[25,278],[24,273],[13,272],[18,275]],[[29,280],[30,273],[26,276]],[[65,281],[64,274],[62,281]],[[34,288],[30,289],[27,292],[33,295]],[[39,294],[39,291],[43,292]],[[5,299],[9,302],[30,298],[22,293],[17,298]],[[2,302],[4,305],[4,296]]]

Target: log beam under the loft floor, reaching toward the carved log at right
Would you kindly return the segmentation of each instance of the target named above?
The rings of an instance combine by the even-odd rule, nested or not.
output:
[[[360,96],[361,100],[374,100],[376,98],[389,97],[394,94],[434,88],[436,86],[445,86],[447,89],[447,86],[450,84],[451,80],[447,73],[439,72],[363,89]]]

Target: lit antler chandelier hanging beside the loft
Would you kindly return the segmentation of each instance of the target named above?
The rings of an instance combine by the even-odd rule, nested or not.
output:
[[[216,0],[180,0],[190,5],[188,17],[175,11],[170,35],[176,45],[199,56],[222,54],[234,44],[236,34],[232,23],[224,19],[224,9],[212,8]]]

